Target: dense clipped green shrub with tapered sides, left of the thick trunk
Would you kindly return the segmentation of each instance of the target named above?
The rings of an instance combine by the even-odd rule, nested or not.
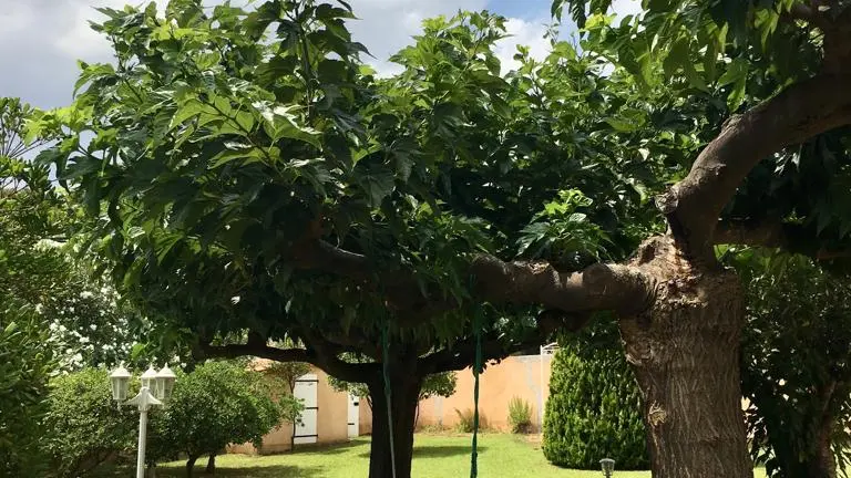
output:
[[[622,351],[568,344],[556,353],[543,449],[567,468],[599,469],[604,457],[619,469],[649,466],[638,387]]]

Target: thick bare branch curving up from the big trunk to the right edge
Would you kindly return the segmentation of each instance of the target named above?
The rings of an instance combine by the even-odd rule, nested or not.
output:
[[[851,123],[849,84],[850,74],[816,76],[730,118],[700,153],[688,176],[658,201],[675,239],[689,256],[711,260],[718,217],[760,160]]]

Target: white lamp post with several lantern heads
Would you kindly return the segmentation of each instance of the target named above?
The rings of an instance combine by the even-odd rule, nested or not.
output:
[[[115,368],[110,374],[112,397],[119,405],[136,405],[139,407],[139,455],[136,456],[136,478],[145,477],[145,443],[147,440],[147,411],[154,405],[163,405],[172,395],[176,377],[166,365],[160,373],[153,366],[148,367],[140,377],[142,388],[133,398],[127,397],[130,372],[124,366]]]

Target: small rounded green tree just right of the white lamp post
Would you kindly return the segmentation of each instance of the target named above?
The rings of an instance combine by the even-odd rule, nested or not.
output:
[[[290,395],[274,396],[263,374],[233,362],[208,362],[178,377],[168,407],[154,416],[151,458],[162,459],[185,453],[186,474],[195,461],[209,456],[207,471],[215,470],[215,457],[228,444],[250,441],[263,445],[263,436],[281,420],[293,422],[301,404]]]

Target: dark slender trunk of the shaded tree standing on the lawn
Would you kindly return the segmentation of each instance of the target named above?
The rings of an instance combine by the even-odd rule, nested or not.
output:
[[[414,357],[416,360],[416,357]],[[390,424],[388,404],[385,397],[385,383],[379,376],[368,383],[372,402],[372,441],[369,453],[369,478],[393,478],[396,458],[396,478],[411,477],[413,458],[413,428],[419,404],[422,378],[413,371],[414,364],[406,370],[404,362],[396,363],[390,373],[391,415],[393,453],[390,453]]]

